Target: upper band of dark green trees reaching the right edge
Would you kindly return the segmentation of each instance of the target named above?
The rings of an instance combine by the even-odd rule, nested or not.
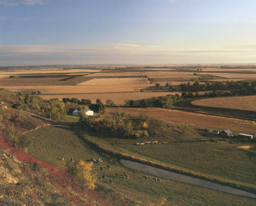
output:
[[[181,83],[179,87],[182,91],[212,91],[212,90],[256,90],[256,81],[213,81],[200,84],[198,81],[191,84],[190,82]]]

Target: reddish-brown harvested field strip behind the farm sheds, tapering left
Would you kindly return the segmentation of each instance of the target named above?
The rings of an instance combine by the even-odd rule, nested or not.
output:
[[[116,112],[116,108],[107,108],[110,112]],[[175,109],[160,108],[122,108],[127,114],[139,116],[140,113],[152,115],[167,121],[189,123],[192,125],[203,126],[205,128],[230,129],[231,131],[256,133],[256,123],[235,118],[219,117],[192,112],[184,112]]]

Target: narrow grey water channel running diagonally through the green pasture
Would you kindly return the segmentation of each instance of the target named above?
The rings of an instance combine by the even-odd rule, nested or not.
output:
[[[180,175],[180,174],[173,173],[171,171],[167,171],[164,169],[159,169],[159,168],[156,168],[153,166],[149,166],[149,165],[145,165],[145,164],[141,164],[141,163],[137,163],[137,162],[132,162],[129,160],[121,160],[120,163],[127,168],[143,171],[144,173],[147,173],[149,175],[154,175],[157,177],[166,178],[169,180],[183,182],[183,183],[187,183],[187,184],[191,184],[191,185],[206,187],[206,188],[209,188],[212,190],[222,191],[225,193],[231,193],[231,194],[235,194],[235,195],[242,195],[242,196],[246,196],[246,197],[256,198],[256,195],[254,195],[252,193],[248,193],[248,192],[245,192],[242,190],[237,190],[237,189],[229,187],[229,186],[223,186],[221,184],[209,182],[206,180],[201,180],[201,179],[189,177],[186,175]]]

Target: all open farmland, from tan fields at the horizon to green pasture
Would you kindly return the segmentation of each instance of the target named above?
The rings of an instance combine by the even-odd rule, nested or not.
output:
[[[256,79],[255,68],[216,67],[203,68],[202,71],[200,68],[186,66],[163,69],[142,67],[127,70],[115,70],[114,66],[96,66],[92,70],[86,68],[64,70],[61,67],[40,68],[40,70],[31,68],[31,70],[0,72],[0,88],[22,94],[40,91],[40,97],[46,99],[84,98],[91,99],[93,103],[96,99],[100,99],[103,104],[107,99],[111,99],[117,106],[123,106],[129,100],[134,100],[137,105],[141,99],[175,94],[182,96],[183,92],[179,87],[172,90],[165,85],[167,82],[177,86],[187,82],[193,84],[194,79],[199,81],[200,85],[204,85],[206,81]],[[157,87],[156,83],[160,86]],[[198,94],[204,93],[205,91],[198,91]],[[162,196],[167,197],[167,205],[232,205],[238,201],[242,205],[254,205],[255,200],[251,198],[164,178],[161,179],[161,184],[152,184],[154,176],[146,175],[149,181],[144,181],[144,173],[124,168],[119,163],[118,156],[109,156],[108,152],[92,146],[93,142],[102,148],[122,152],[144,161],[182,169],[242,187],[256,188],[253,175],[256,157],[254,144],[241,143],[238,138],[223,138],[223,141],[220,141],[218,135],[208,133],[208,130],[213,129],[230,129],[235,133],[255,134],[254,116],[245,118],[239,113],[227,114],[217,111],[219,108],[255,112],[253,105],[255,96],[182,100],[169,109],[153,107],[119,109],[119,112],[125,112],[122,115],[128,114],[134,119],[140,115],[151,115],[155,118],[156,125],[162,125],[161,129],[152,130],[150,136],[144,139],[117,139],[115,134],[108,135],[107,132],[94,131],[78,124],[78,117],[68,116],[66,122],[55,122],[53,125],[26,134],[31,141],[27,151],[37,159],[62,168],[65,167],[65,162],[61,161],[62,157],[67,161],[72,157],[74,160],[81,159],[85,162],[100,157],[103,159],[103,170],[99,169],[100,163],[95,163],[96,170],[93,170],[99,174],[96,190],[107,194],[123,193],[137,205],[148,205],[148,200],[156,203],[156,200]],[[206,107],[217,109],[204,110]],[[115,114],[117,108],[107,107],[106,110]],[[84,137],[87,138],[86,141]],[[207,141],[200,142],[202,139]],[[210,139],[218,142],[210,142]],[[135,145],[137,142],[145,141],[166,141],[168,144]],[[250,148],[243,149],[247,144],[251,144]],[[111,170],[107,168],[107,164],[111,166]],[[115,173],[123,174],[124,171],[129,174],[129,180],[114,176]],[[106,179],[101,180],[102,175],[106,175]],[[109,179],[113,180],[113,185],[109,184]]]

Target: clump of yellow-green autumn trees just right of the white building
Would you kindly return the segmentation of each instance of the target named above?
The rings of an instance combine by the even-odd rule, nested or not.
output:
[[[146,119],[130,118],[119,108],[116,115],[104,112],[100,113],[99,117],[89,117],[86,114],[81,114],[79,122],[95,131],[117,138],[147,138],[149,136]]]

